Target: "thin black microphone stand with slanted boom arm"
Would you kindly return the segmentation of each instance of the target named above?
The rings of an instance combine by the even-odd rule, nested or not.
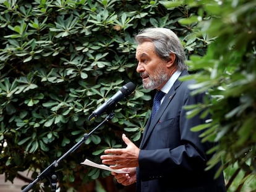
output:
[[[40,175],[38,175],[36,177],[35,180],[33,180],[33,182],[31,182],[29,185],[27,185],[22,192],[27,192],[30,189],[32,189],[33,185],[35,185],[36,183],[38,183],[40,180],[43,180],[45,177],[48,177],[51,183],[51,191],[56,191],[56,186],[58,183],[58,175],[55,172],[55,168],[59,166],[59,162],[61,162],[63,159],[65,159],[70,153],[74,152],[76,149],[78,149],[80,147],[80,145],[85,142],[88,137],[90,135],[92,135],[92,133],[97,130],[101,125],[103,125],[103,123],[108,122],[109,120],[113,119],[114,117],[114,112],[110,112],[107,117],[105,118],[105,120],[103,120],[99,125],[97,125],[95,128],[93,128],[92,131],[90,131],[90,133],[85,133],[85,135],[83,135],[83,138],[76,143],[72,148],[69,149],[69,151],[67,151],[65,154],[63,154],[58,160],[54,161],[51,165],[49,165],[43,172],[40,173]]]

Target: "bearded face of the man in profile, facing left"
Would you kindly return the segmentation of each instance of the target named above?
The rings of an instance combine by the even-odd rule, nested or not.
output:
[[[142,77],[143,87],[149,90],[160,90],[169,78],[167,62],[156,55],[151,41],[145,41],[137,46],[136,59],[137,72]]]

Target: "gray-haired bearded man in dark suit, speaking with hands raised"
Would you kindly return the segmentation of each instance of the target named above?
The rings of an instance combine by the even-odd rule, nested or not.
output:
[[[164,96],[158,112],[148,120],[140,148],[123,134],[127,148],[106,149],[101,156],[103,164],[128,171],[112,174],[122,185],[137,182],[137,191],[226,191],[223,174],[213,178],[220,165],[205,170],[211,157],[207,151],[213,143],[201,143],[200,133],[190,131],[206,119],[199,115],[186,118],[184,106],[203,102],[204,94],[192,96],[189,85],[194,81],[178,79],[188,75],[179,38],[167,28],[148,28],[135,40],[137,72],[143,87],[161,90]],[[155,112],[155,107],[152,110]]]

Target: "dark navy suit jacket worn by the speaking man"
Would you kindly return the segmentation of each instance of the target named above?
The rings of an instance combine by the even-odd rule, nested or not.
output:
[[[198,116],[186,118],[184,106],[203,102],[203,94],[190,95],[187,87],[192,83],[176,80],[155,118],[148,121],[140,144],[137,191],[226,191],[222,174],[213,179],[219,165],[204,170],[213,143],[201,143],[200,133],[190,131],[205,122]]]

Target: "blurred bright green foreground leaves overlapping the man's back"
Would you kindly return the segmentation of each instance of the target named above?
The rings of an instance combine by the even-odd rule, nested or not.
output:
[[[203,141],[218,141],[216,155],[209,167],[223,158],[223,169],[231,169],[235,164],[237,172],[227,177],[228,186],[234,178],[240,177],[237,191],[248,190],[246,183],[255,183],[256,157],[256,14],[255,1],[186,1],[204,10],[205,19],[198,17],[197,36],[207,34],[215,40],[208,46],[205,56],[191,56],[190,69],[198,73],[187,78],[196,78],[193,88],[207,90],[211,95],[208,105],[213,115],[211,122],[194,128],[207,128]],[[180,20],[187,24],[194,22],[192,15]],[[193,108],[193,107],[191,107]],[[237,166],[238,165],[238,166]],[[244,172],[241,179],[239,172]],[[252,177],[249,177],[252,176]],[[236,182],[233,182],[236,185]],[[245,185],[243,186],[243,184]],[[255,190],[251,188],[250,190]],[[233,187],[234,188],[234,187]]]

